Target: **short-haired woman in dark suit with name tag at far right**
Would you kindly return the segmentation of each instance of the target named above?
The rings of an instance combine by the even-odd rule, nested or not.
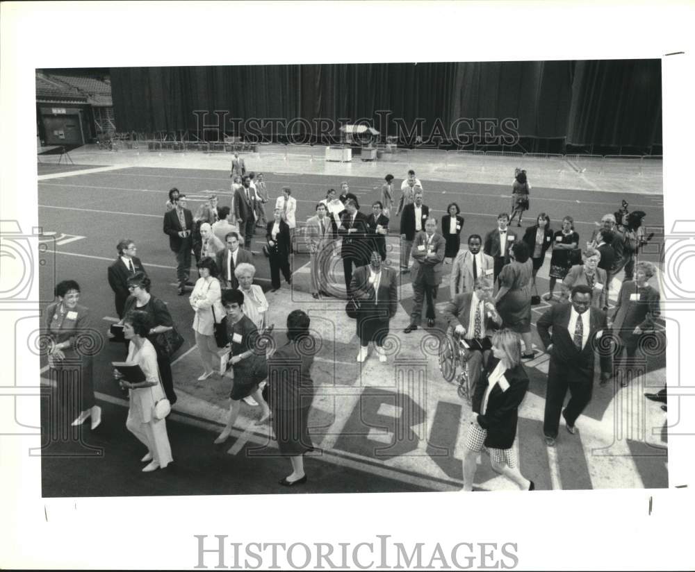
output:
[[[614,371],[619,371],[619,362],[623,350],[630,362],[635,357],[637,348],[644,335],[653,332],[654,321],[661,310],[659,308],[659,291],[649,284],[649,278],[656,273],[656,267],[651,262],[637,262],[635,264],[635,281],[626,280],[620,288],[618,302],[614,308],[612,319],[608,325],[614,330],[619,342],[619,351],[615,357]],[[628,385],[628,376],[631,371],[625,364],[621,375],[620,385]]]

